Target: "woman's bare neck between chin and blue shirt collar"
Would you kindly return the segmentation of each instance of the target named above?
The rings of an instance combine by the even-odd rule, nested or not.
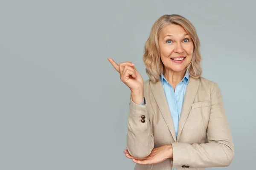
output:
[[[164,77],[172,85],[175,86],[183,79],[185,76],[186,70],[175,72],[172,70],[166,70]]]

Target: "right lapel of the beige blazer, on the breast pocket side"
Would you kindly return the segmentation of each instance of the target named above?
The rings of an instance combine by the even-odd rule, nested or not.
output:
[[[182,106],[181,113],[180,113],[177,141],[179,141],[180,133],[184,127],[184,124],[189,115],[190,109],[194,102],[195,95],[196,95],[196,93],[198,91],[198,87],[199,87],[199,81],[200,81],[199,79],[194,79],[192,77],[189,77],[189,83],[186,88],[186,94],[184,96],[183,106]]]

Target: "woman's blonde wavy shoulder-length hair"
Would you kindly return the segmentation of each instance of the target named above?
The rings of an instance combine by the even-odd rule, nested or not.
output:
[[[178,14],[163,15],[152,26],[148,40],[145,42],[143,61],[146,66],[146,74],[151,82],[158,82],[160,74],[165,73],[163,62],[160,58],[160,49],[158,38],[161,30],[170,24],[182,26],[194,44],[192,61],[187,66],[186,70],[191,77],[198,79],[202,75],[200,41],[196,33],[195,27],[185,17]]]

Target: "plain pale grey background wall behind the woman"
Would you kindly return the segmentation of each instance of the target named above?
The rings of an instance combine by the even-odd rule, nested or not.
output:
[[[1,0],[0,170],[132,170],[129,89],[107,58],[134,62],[163,14],[197,28],[203,76],[221,88],[235,144],[255,165],[255,4],[189,0]],[[211,168],[218,170],[222,168]]]

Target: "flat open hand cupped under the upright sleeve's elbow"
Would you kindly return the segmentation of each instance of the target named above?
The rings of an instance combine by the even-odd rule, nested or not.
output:
[[[145,158],[136,158],[130,155],[128,149],[124,150],[125,156],[129,159],[132,159],[133,162],[137,164],[157,164],[168,158],[173,157],[172,144],[163,145],[157,148],[154,148],[150,155]]]

